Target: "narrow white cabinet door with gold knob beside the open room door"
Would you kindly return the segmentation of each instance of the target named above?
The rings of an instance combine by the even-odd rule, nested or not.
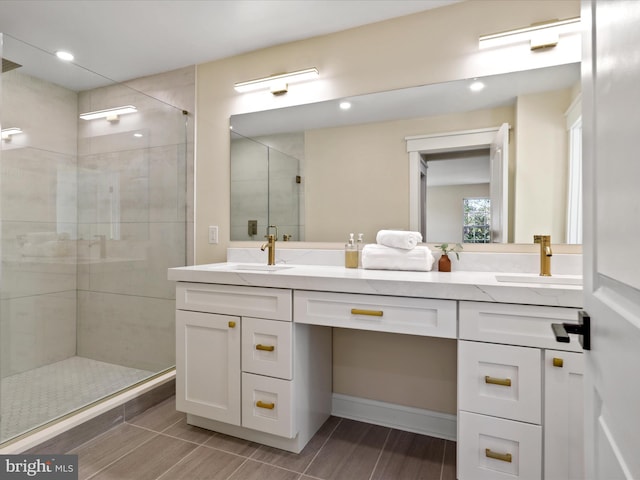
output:
[[[544,370],[544,478],[584,479],[584,356],[547,350]]]

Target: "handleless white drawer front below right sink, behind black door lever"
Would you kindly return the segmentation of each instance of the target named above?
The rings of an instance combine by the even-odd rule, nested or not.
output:
[[[582,352],[578,336],[556,341],[552,323],[578,323],[577,308],[460,302],[460,339]]]

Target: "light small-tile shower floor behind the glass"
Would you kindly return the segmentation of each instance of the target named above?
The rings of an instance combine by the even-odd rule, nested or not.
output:
[[[3,378],[0,442],[99,400],[156,372],[83,357]]]

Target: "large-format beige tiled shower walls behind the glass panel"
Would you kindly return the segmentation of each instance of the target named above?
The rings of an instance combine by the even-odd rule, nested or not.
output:
[[[24,132],[1,152],[2,377],[76,354],[174,363],[166,269],[193,257],[195,68],[130,83],[179,108],[123,86],[77,93],[2,75],[2,125]],[[129,119],[78,120],[128,103]]]

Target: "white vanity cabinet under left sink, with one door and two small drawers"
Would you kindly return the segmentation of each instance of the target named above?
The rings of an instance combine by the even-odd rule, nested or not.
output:
[[[331,332],[290,289],[179,282],[176,407],[210,430],[299,452],[331,411]]]

